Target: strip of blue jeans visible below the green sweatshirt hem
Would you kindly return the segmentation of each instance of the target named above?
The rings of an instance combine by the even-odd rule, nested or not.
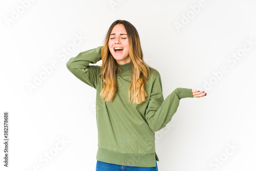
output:
[[[134,167],[105,163],[97,160],[96,171],[158,171],[158,167],[157,161],[156,167]]]

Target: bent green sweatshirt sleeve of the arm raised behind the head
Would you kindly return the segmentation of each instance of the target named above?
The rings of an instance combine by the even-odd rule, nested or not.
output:
[[[76,57],[72,57],[66,63],[68,70],[78,79],[93,88],[97,88],[99,83],[100,66],[89,66],[90,63],[97,63],[101,60],[101,48],[98,47],[88,51],[80,52]]]

